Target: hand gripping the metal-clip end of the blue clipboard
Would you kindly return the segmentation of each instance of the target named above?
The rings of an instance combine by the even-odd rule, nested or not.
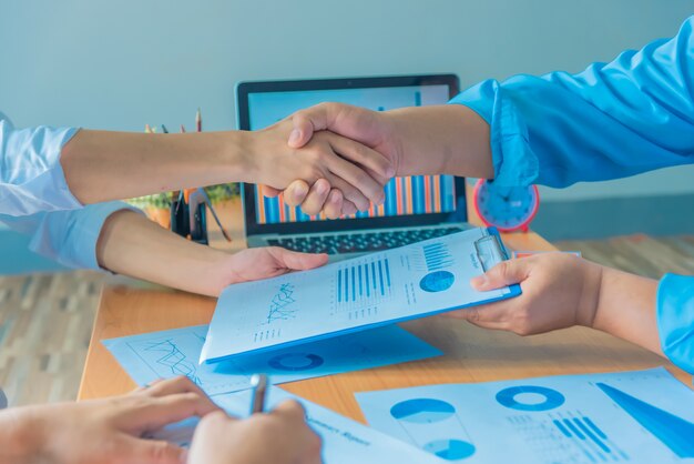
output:
[[[572,325],[593,326],[602,266],[565,253],[542,253],[504,261],[472,280],[489,291],[519,283],[522,294],[482,306],[448,313],[474,325],[520,335]]]

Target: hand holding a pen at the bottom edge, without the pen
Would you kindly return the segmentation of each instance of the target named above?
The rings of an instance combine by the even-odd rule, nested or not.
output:
[[[297,402],[287,401],[245,421],[214,413],[197,426],[188,464],[265,463],[320,463],[320,438],[306,424]]]

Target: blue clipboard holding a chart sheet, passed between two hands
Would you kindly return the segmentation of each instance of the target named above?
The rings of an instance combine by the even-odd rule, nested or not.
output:
[[[518,285],[470,286],[471,278],[506,259],[496,229],[480,228],[231,285],[220,296],[201,363],[518,295]]]

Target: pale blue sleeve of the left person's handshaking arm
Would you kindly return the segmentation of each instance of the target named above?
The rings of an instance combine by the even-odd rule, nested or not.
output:
[[[0,113],[0,214],[19,216],[82,208],[70,192],[60,164],[62,147],[76,131],[16,129]]]

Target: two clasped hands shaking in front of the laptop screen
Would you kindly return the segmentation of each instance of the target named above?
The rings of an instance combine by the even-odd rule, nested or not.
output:
[[[398,173],[399,152],[385,113],[339,103],[298,111],[255,133],[263,154],[257,175],[263,194],[329,219],[385,201],[384,186]],[[283,153],[268,155],[269,153]],[[287,155],[288,154],[288,155]]]

